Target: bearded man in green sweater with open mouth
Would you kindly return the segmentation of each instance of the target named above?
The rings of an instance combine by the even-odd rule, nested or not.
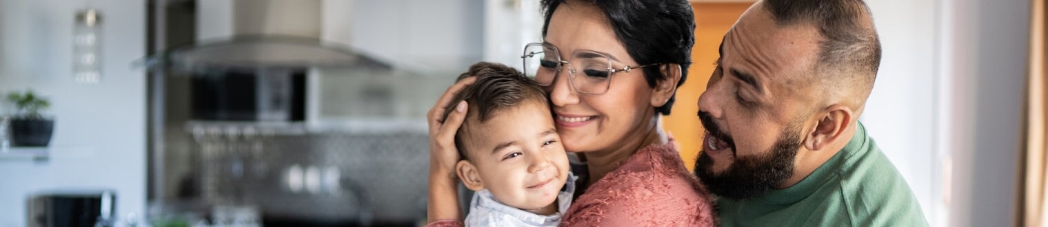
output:
[[[764,0],[724,36],[699,97],[695,174],[723,226],[926,226],[857,121],[880,64],[861,0]]]

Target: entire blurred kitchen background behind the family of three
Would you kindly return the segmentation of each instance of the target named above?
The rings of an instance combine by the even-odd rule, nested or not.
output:
[[[54,122],[47,146],[0,152],[0,226],[422,225],[425,112],[473,63],[519,67],[538,2],[0,0],[0,93],[31,89]],[[717,46],[754,1],[692,2],[664,122],[689,166]],[[933,226],[1022,219],[1033,2],[868,1],[883,60],[861,120]]]

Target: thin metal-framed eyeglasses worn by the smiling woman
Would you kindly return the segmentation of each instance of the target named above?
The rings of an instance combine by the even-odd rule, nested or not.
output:
[[[614,75],[616,72],[630,72],[633,69],[639,69],[639,68],[643,68],[643,67],[648,67],[648,66],[661,65],[661,63],[653,63],[653,64],[640,65],[640,66],[626,66],[626,67],[623,67],[621,69],[616,69],[616,68],[613,68],[613,66],[611,65],[611,61],[614,60],[615,62],[618,62],[618,60],[615,60],[615,58],[612,58],[611,54],[608,54],[606,52],[601,52],[601,51],[591,50],[591,49],[576,49],[575,51],[571,52],[570,55],[572,58],[570,60],[564,61],[564,59],[561,58],[561,50],[558,49],[556,46],[549,45],[549,44],[546,44],[546,43],[529,43],[529,44],[525,44],[524,45],[524,53],[521,55],[521,64],[524,66],[523,67],[524,75],[527,75],[527,59],[534,56],[534,54],[537,54],[537,53],[542,53],[542,52],[533,52],[533,51],[530,52],[530,53],[528,53],[527,52],[527,48],[529,46],[540,46],[540,47],[542,47],[544,49],[544,51],[542,51],[542,52],[545,52],[546,48],[552,49],[553,50],[553,55],[556,56],[556,61],[555,61],[556,62],[556,69],[553,72],[553,80],[550,81],[549,84],[546,84],[546,85],[543,85],[542,83],[539,83],[537,80],[536,80],[536,83],[538,83],[540,86],[543,86],[543,87],[552,85],[554,82],[556,82],[556,77],[561,75],[561,71],[564,70],[564,65],[567,65],[568,68],[569,68],[569,70],[568,70],[568,83],[571,84],[571,88],[574,89],[575,92],[578,92],[581,94],[588,94],[588,95],[602,95],[602,94],[606,94],[606,93],[608,93],[608,90],[611,90],[611,76]],[[571,61],[573,61],[574,60],[574,55],[577,52],[581,52],[581,51],[586,51],[586,52],[592,52],[592,53],[601,54],[605,59],[608,59],[608,85],[606,86],[606,88],[604,88],[604,92],[601,92],[601,93],[584,92],[582,90],[578,90],[578,87],[575,86],[575,73],[574,73],[575,69],[574,69],[573,66],[571,66]],[[619,63],[621,63],[621,62],[619,62]],[[539,67],[542,68],[541,65]],[[534,73],[536,73],[536,77],[538,77],[539,76],[538,70]]]

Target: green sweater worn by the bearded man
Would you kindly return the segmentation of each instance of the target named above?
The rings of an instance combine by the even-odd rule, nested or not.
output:
[[[863,123],[848,145],[793,186],[717,204],[722,226],[927,226],[910,185]]]

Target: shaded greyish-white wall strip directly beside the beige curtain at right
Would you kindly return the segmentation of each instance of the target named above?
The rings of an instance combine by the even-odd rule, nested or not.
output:
[[[1026,0],[941,0],[943,153],[951,226],[1014,220],[1023,91],[1029,54]]]

